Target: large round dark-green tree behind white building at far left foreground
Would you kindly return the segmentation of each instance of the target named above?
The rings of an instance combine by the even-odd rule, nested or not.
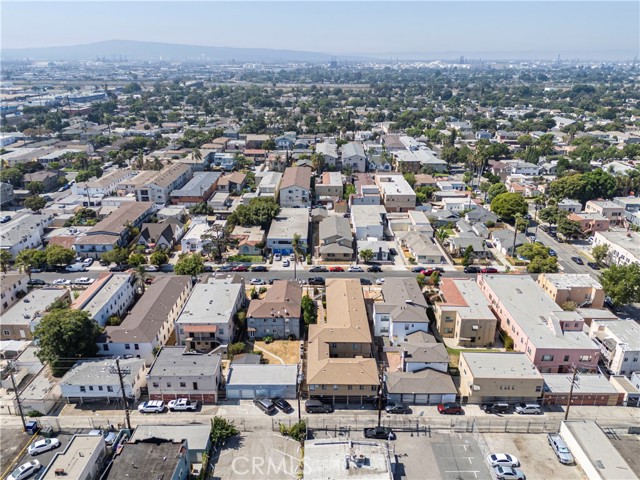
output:
[[[101,329],[83,310],[56,309],[42,318],[34,331],[37,357],[60,377],[76,360],[94,357]]]

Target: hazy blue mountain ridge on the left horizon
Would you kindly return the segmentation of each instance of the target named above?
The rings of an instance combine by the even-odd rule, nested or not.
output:
[[[128,60],[187,60],[207,59],[214,62],[328,62],[331,55],[297,50],[269,48],[208,47],[175,43],[108,40],[82,45],[3,49],[4,60],[95,60],[127,58]]]

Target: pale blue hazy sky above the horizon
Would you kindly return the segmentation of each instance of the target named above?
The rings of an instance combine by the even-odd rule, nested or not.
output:
[[[640,2],[0,1],[2,48],[142,40],[331,54],[560,52],[629,58]]]

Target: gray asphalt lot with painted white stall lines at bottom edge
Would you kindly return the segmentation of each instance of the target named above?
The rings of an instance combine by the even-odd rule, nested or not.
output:
[[[398,468],[394,478],[491,480],[480,447],[468,433],[399,432],[390,442]],[[435,467],[435,468],[434,468]]]

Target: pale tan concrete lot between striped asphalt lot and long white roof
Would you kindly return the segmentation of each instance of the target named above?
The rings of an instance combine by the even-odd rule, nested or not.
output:
[[[547,443],[546,434],[485,433],[484,440],[492,453],[509,453],[520,460],[520,470],[527,478],[586,479],[577,465],[563,465]]]

